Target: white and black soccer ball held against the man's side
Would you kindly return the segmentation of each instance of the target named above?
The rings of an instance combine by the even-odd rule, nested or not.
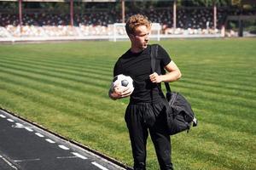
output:
[[[122,88],[130,88],[130,90],[133,92],[133,80],[131,77],[125,76],[123,74],[119,74],[116,77],[113,77],[112,86],[113,89],[115,86],[119,87],[119,90],[122,91]]]

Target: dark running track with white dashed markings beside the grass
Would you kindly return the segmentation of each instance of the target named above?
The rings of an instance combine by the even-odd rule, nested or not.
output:
[[[77,144],[0,110],[1,170],[121,170]]]

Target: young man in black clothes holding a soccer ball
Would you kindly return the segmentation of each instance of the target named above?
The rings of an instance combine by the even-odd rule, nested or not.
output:
[[[166,133],[166,105],[157,83],[174,82],[181,77],[181,72],[164,48],[159,46],[160,64],[168,72],[158,75],[151,71],[150,45],[148,35],[151,23],[142,14],[132,15],[126,22],[125,30],[131,40],[131,48],[123,54],[113,69],[113,76],[124,74],[134,81],[134,91],[129,88],[113,87],[109,90],[111,99],[130,96],[130,103],[125,111],[125,122],[129,129],[134,169],[146,169],[146,144],[148,131],[154,143],[160,169],[173,169],[171,161],[171,139]]]

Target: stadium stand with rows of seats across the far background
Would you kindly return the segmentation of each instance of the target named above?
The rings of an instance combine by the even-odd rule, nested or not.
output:
[[[1,11],[0,11],[1,12]],[[127,11],[125,18],[135,11]],[[154,23],[162,26],[162,35],[214,35],[221,34],[228,15],[241,14],[239,9],[218,8],[218,25],[213,29],[212,8],[178,8],[177,28],[172,28],[172,9],[149,8],[140,11]],[[255,10],[242,11],[246,15],[256,15]],[[90,13],[74,14],[74,26],[70,26],[69,14],[38,13],[23,14],[22,28],[19,26],[19,14],[0,13],[0,37],[88,37],[112,36],[113,23],[121,22],[121,16],[112,9],[96,10]],[[124,32],[125,33],[125,32]]]

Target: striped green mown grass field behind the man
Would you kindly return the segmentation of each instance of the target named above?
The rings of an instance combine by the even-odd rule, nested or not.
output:
[[[166,40],[199,127],[172,137],[176,170],[256,169],[256,39]],[[0,107],[132,166],[128,99],[108,99],[129,42],[0,45]],[[148,169],[158,169],[148,140]]]

